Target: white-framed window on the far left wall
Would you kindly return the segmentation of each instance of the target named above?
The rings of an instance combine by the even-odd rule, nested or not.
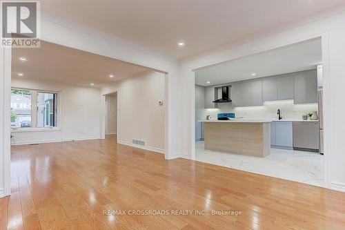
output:
[[[12,88],[12,128],[57,127],[57,97],[57,93]]]

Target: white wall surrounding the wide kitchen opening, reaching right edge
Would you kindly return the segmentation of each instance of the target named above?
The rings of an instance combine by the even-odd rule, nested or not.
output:
[[[326,187],[345,191],[345,142],[343,134],[345,123],[344,104],[344,60],[345,60],[345,12],[307,23],[297,28],[253,39],[252,41],[219,52],[204,54],[181,61],[181,79],[184,79],[183,97],[188,103],[182,104],[182,110],[188,111],[187,121],[181,121],[188,140],[188,153],[195,157],[195,75],[193,69],[201,68],[222,61],[228,61],[279,48],[300,41],[322,37],[322,64],[324,76],[324,139],[325,139],[325,178]],[[184,146],[185,147],[185,146]]]

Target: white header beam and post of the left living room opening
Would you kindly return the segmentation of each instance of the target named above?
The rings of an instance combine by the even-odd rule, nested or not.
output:
[[[63,19],[43,18],[41,39],[167,73],[165,82],[166,159],[188,157],[187,148],[182,144],[184,140],[177,138],[183,135],[181,116],[184,115],[184,111],[181,111],[182,79],[179,77],[177,59],[159,55],[123,39]]]

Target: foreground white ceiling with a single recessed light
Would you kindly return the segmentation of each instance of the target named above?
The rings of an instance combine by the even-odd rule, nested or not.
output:
[[[345,0],[42,0],[43,15],[188,57],[324,15]],[[177,41],[185,41],[184,48]]]

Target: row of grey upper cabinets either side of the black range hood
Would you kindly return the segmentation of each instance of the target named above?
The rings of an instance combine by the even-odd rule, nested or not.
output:
[[[230,84],[232,106],[262,106],[264,102],[294,99],[295,104],[317,103],[317,70],[306,70]],[[211,89],[212,88],[212,89]],[[205,108],[219,108],[213,103],[221,95],[218,86],[206,87]]]

